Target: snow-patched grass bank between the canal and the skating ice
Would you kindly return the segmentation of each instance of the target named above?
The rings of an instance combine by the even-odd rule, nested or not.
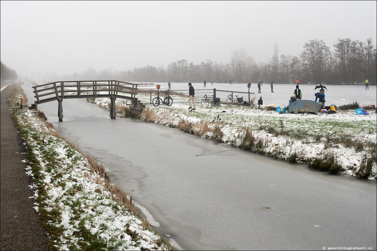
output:
[[[312,168],[318,168],[313,162],[318,164],[321,160],[322,166],[327,165],[324,156],[330,156],[334,158],[332,165],[338,172],[376,179],[375,111],[370,111],[368,116],[356,115],[355,110],[326,115],[279,114],[236,105],[207,108],[196,100],[196,111],[190,112],[187,104],[155,107],[148,104],[148,95],[139,93],[138,99],[147,104],[141,115],[143,120],[292,163],[308,163]],[[110,100],[100,98],[91,102],[107,108]],[[124,100],[116,102],[125,105]],[[365,175],[363,168],[367,163],[370,170]],[[338,166],[340,168],[335,168]]]

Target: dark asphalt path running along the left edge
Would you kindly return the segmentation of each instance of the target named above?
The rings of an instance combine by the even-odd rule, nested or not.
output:
[[[49,238],[34,210],[31,177],[26,175],[25,147],[9,111],[14,84],[1,92],[0,249],[50,250]]]

